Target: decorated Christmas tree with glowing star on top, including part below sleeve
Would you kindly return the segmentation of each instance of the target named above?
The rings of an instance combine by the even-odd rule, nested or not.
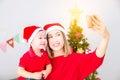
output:
[[[87,38],[83,34],[83,28],[78,25],[79,16],[81,12],[82,11],[80,11],[77,7],[71,10],[71,14],[73,18],[70,23],[70,27],[68,31],[68,42],[73,52],[86,54],[86,51],[89,51],[90,49]],[[97,75],[97,71],[94,71],[85,80],[98,80],[96,75]]]

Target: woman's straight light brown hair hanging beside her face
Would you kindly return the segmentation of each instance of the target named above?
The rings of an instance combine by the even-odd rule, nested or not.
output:
[[[70,52],[70,47],[69,47],[69,44],[68,44],[68,41],[66,39],[66,36],[65,34],[61,31],[62,35],[63,35],[63,39],[64,39],[64,46],[63,46],[63,50],[65,52],[64,56],[68,56],[69,54],[71,54]],[[47,39],[48,39],[48,35],[47,35]],[[49,41],[48,41],[48,45],[47,45],[47,52],[48,52],[48,55],[50,58],[53,58],[54,57],[54,53],[52,51],[52,49],[50,48],[49,46]]]

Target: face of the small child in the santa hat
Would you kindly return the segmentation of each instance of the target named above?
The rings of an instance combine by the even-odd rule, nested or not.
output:
[[[47,46],[47,39],[45,31],[39,31],[31,42],[31,46],[34,50],[45,49]]]

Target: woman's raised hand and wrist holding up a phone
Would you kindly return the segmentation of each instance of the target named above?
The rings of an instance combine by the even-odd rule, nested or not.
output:
[[[87,16],[88,28],[92,28],[94,31],[98,32],[102,38],[109,38],[110,34],[105,26],[105,24],[96,15]]]

